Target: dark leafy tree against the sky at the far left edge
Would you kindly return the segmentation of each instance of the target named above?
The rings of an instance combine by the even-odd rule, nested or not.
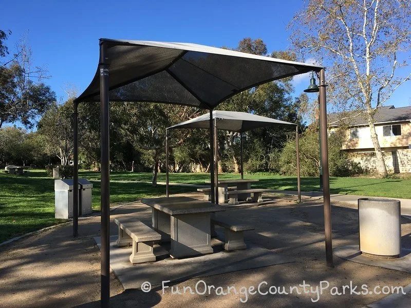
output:
[[[49,78],[46,70],[33,66],[31,49],[24,39],[12,59],[3,59],[9,54],[6,38],[7,33],[0,30],[0,127],[18,121],[32,128],[55,102],[55,93],[43,83]]]

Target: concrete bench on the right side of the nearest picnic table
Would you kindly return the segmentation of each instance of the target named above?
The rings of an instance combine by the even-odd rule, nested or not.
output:
[[[212,223],[221,226],[225,229],[224,249],[226,251],[234,251],[238,249],[246,249],[247,245],[244,242],[243,232],[247,230],[254,230],[254,226],[227,217],[219,217],[214,215],[211,219]]]

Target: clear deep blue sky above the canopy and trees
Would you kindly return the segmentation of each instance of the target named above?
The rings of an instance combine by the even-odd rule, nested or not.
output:
[[[66,83],[83,91],[94,76],[98,39],[190,42],[235,47],[244,37],[262,38],[268,50],[286,49],[286,26],[302,1],[15,1],[3,4],[0,29],[10,29],[6,44],[28,32],[35,64],[48,69],[46,83],[64,96]],[[411,84],[411,82],[409,82]],[[295,97],[309,84],[298,79]],[[409,85],[388,104],[408,106]],[[80,93],[79,93],[80,94]]]

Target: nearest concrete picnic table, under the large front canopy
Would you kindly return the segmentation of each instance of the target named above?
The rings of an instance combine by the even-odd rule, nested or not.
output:
[[[211,214],[224,207],[189,197],[141,199],[152,207],[153,228],[161,241],[171,239],[173,258],[211,254]]]

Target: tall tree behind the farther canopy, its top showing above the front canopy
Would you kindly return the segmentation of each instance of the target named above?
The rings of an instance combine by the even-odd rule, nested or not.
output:
[[[246,37],[238,43],[234,50],[285,60],[295,60],[295,55],[286,51],[275,51],[268,55],[267,46],[261,38],[253,40],[250,37]],[[264,117],[299,123],[301,119],[298,117],[297,112],[298,102],[292,100],[292,91],[291,78],[287,78],[238,93],[220,104],[218,108],[249,112]],[[244,144],[246,148],[245,156],[252,158],[252,164],[256,166],[251,168],[253,171],[256,169],[261,170],[261,168],[270,169],[270,158],[275,156],[277,149],[281,148],[287,140],[287,132],[290,132],[290,130],[284,127],[263,128],[247,132],[248,137],[253,141]],[[233,171],[238,173],[240,159],[239,133],[225,131],[223,134],[229,151],[227,154],[233,162]]]

